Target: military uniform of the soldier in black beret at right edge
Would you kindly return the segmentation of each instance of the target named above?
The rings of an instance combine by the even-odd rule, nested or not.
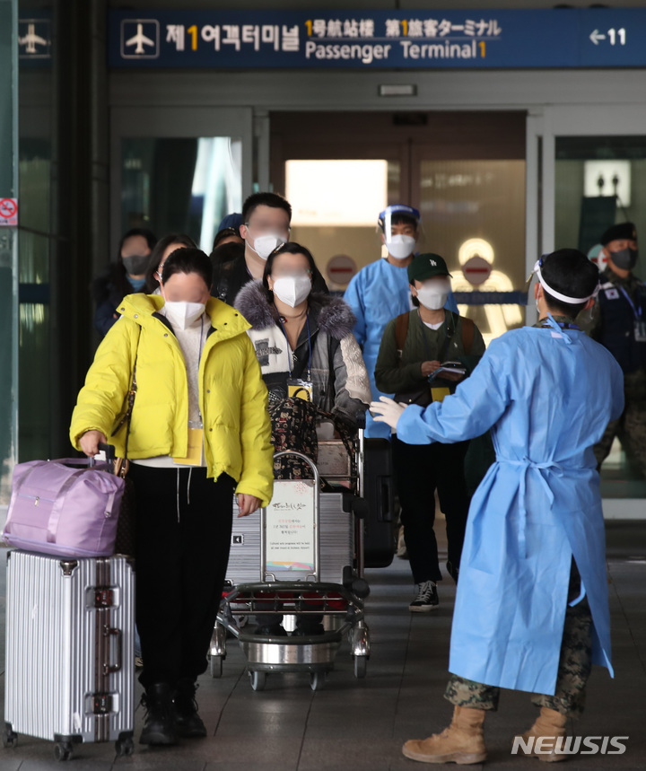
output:
[[[595,457],[600,467],[618,436],[646,477],[646,285],[609,267],[601,281],[590,336],[607,347],[624,372],[625,408],[595,445]]]

